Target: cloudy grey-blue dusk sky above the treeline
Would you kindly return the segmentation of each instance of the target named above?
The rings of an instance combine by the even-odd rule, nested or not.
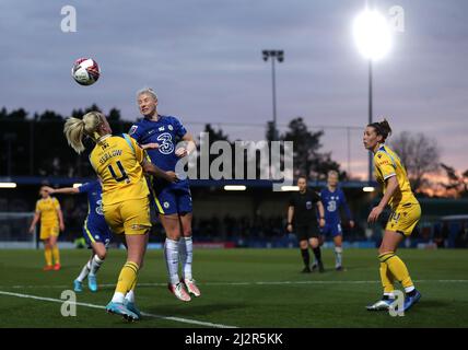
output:
[[[468,168],[468,1],[375,1],[383,14],[400,5],[405,32],[375,63],[374,118],[396,135],[423,132],[441,160]],[[63,33],[62,7],[77,10],[77,32]],[[309,128],[351,132],[351,173],[366,172],[367,66],[352,21],[364,0],[173,0],[0,2],[0,107],[68,115],[96,103],[125,119],[139,116],[136,92],[152,86],[159,112],[198,133],[211,122],[231,139],[260,140],[272,119],[271,66],[261,50],[283,49],[277,66],[278,122],[302,116]],[[94,58],[92,86],[70,75]],[[231,125],[235,124],[235,125]],[[280,129],[284,129],[281,127]],[[3,130],[2,130],[3,131]],[[348,170],[346,129],[325,129],[323,151]]]

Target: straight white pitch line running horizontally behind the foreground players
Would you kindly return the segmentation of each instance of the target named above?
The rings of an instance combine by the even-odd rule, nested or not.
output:
[[[468,280],[413,280],[418,283],[467,283]],[[197,282],[199,285],[288,285],[288,284],[374,284],[374,281],[257,281],[257,282]],[[139,287],[166,287],[167,283],[138,283]],[[115,284],[100,284],[103,288],[114,288]],[[28,289],[28,288],[71,288],[67,285],[0,285],[2,289]]]

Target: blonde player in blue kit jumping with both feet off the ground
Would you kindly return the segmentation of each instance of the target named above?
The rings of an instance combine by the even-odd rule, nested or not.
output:
[[[177,118],[157,113],[157,96],[152,89],[139,91],[137,100],[144,118],[130,128],[129,135],[147,150],[153,164],[163,171],[175,171],[179,159],[196,149],[194,137]],[[176,149],[179,141],[185,141],[187,145]],[[151,182],[154,206],[166,232],[164,257],[169,277],[168,288],[177,299],[188,302],[189,294],[200,296],[191,271],[194,245],[189,184],[187,179],[167,183],[153,178]],[[178,275],[179,257],[182,279]]]

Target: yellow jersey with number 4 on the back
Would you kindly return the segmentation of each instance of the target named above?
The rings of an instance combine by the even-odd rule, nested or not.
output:
[[[98,140],[90,162],[103,182],[103,203],[144,198],[150,194],[141,167],[143,159],[144,151],[126,133]]]

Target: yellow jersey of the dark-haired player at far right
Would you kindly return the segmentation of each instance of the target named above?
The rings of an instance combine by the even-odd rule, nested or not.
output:
[[[395,191],[388,202],[393,209],[396,209],[400,205],[418,202],[399,156],[385,144],[381,145],[374,154],[374,174],[377,182],[383,185],[384,194],[386,190],[385,180],[391,176],[397,177],[399,189]]]

